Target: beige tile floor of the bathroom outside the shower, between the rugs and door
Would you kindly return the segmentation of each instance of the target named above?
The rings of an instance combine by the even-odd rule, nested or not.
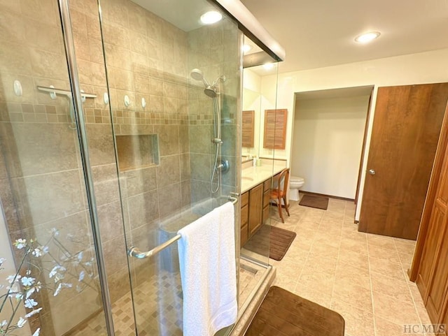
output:
[[[274,285],[342,314],[346,336],[428,335],[404,333],[403,325],[430,323],[407,277],[414,241],[360,233],[354,211],[353,202],[330,199],[328,210],[290,201],[284,224],[272,212],[272,225],[297,233],[283,260],[271,260]]]

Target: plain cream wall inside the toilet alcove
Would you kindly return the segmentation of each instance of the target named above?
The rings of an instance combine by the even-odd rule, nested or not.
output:
[[[302,190],[355,198],[369,98],[295,101],[290,173]]]

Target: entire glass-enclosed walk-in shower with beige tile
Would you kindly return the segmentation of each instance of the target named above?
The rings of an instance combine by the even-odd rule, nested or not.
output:
[[[176,244],[127,250],[240,191],[242,32],[217,3],[0,1],[4,335],[183,335]],[[223,20],[200,24],[212,9]]]

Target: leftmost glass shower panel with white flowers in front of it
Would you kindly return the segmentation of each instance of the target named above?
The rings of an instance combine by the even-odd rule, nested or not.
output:
[[[1,335],[107,335],[57,1],[0,13]]]

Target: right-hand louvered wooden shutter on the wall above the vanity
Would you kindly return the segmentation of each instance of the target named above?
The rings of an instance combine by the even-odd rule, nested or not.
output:
[[[265,110],[265,141],[268,149],[285,149],[288,110]]]

